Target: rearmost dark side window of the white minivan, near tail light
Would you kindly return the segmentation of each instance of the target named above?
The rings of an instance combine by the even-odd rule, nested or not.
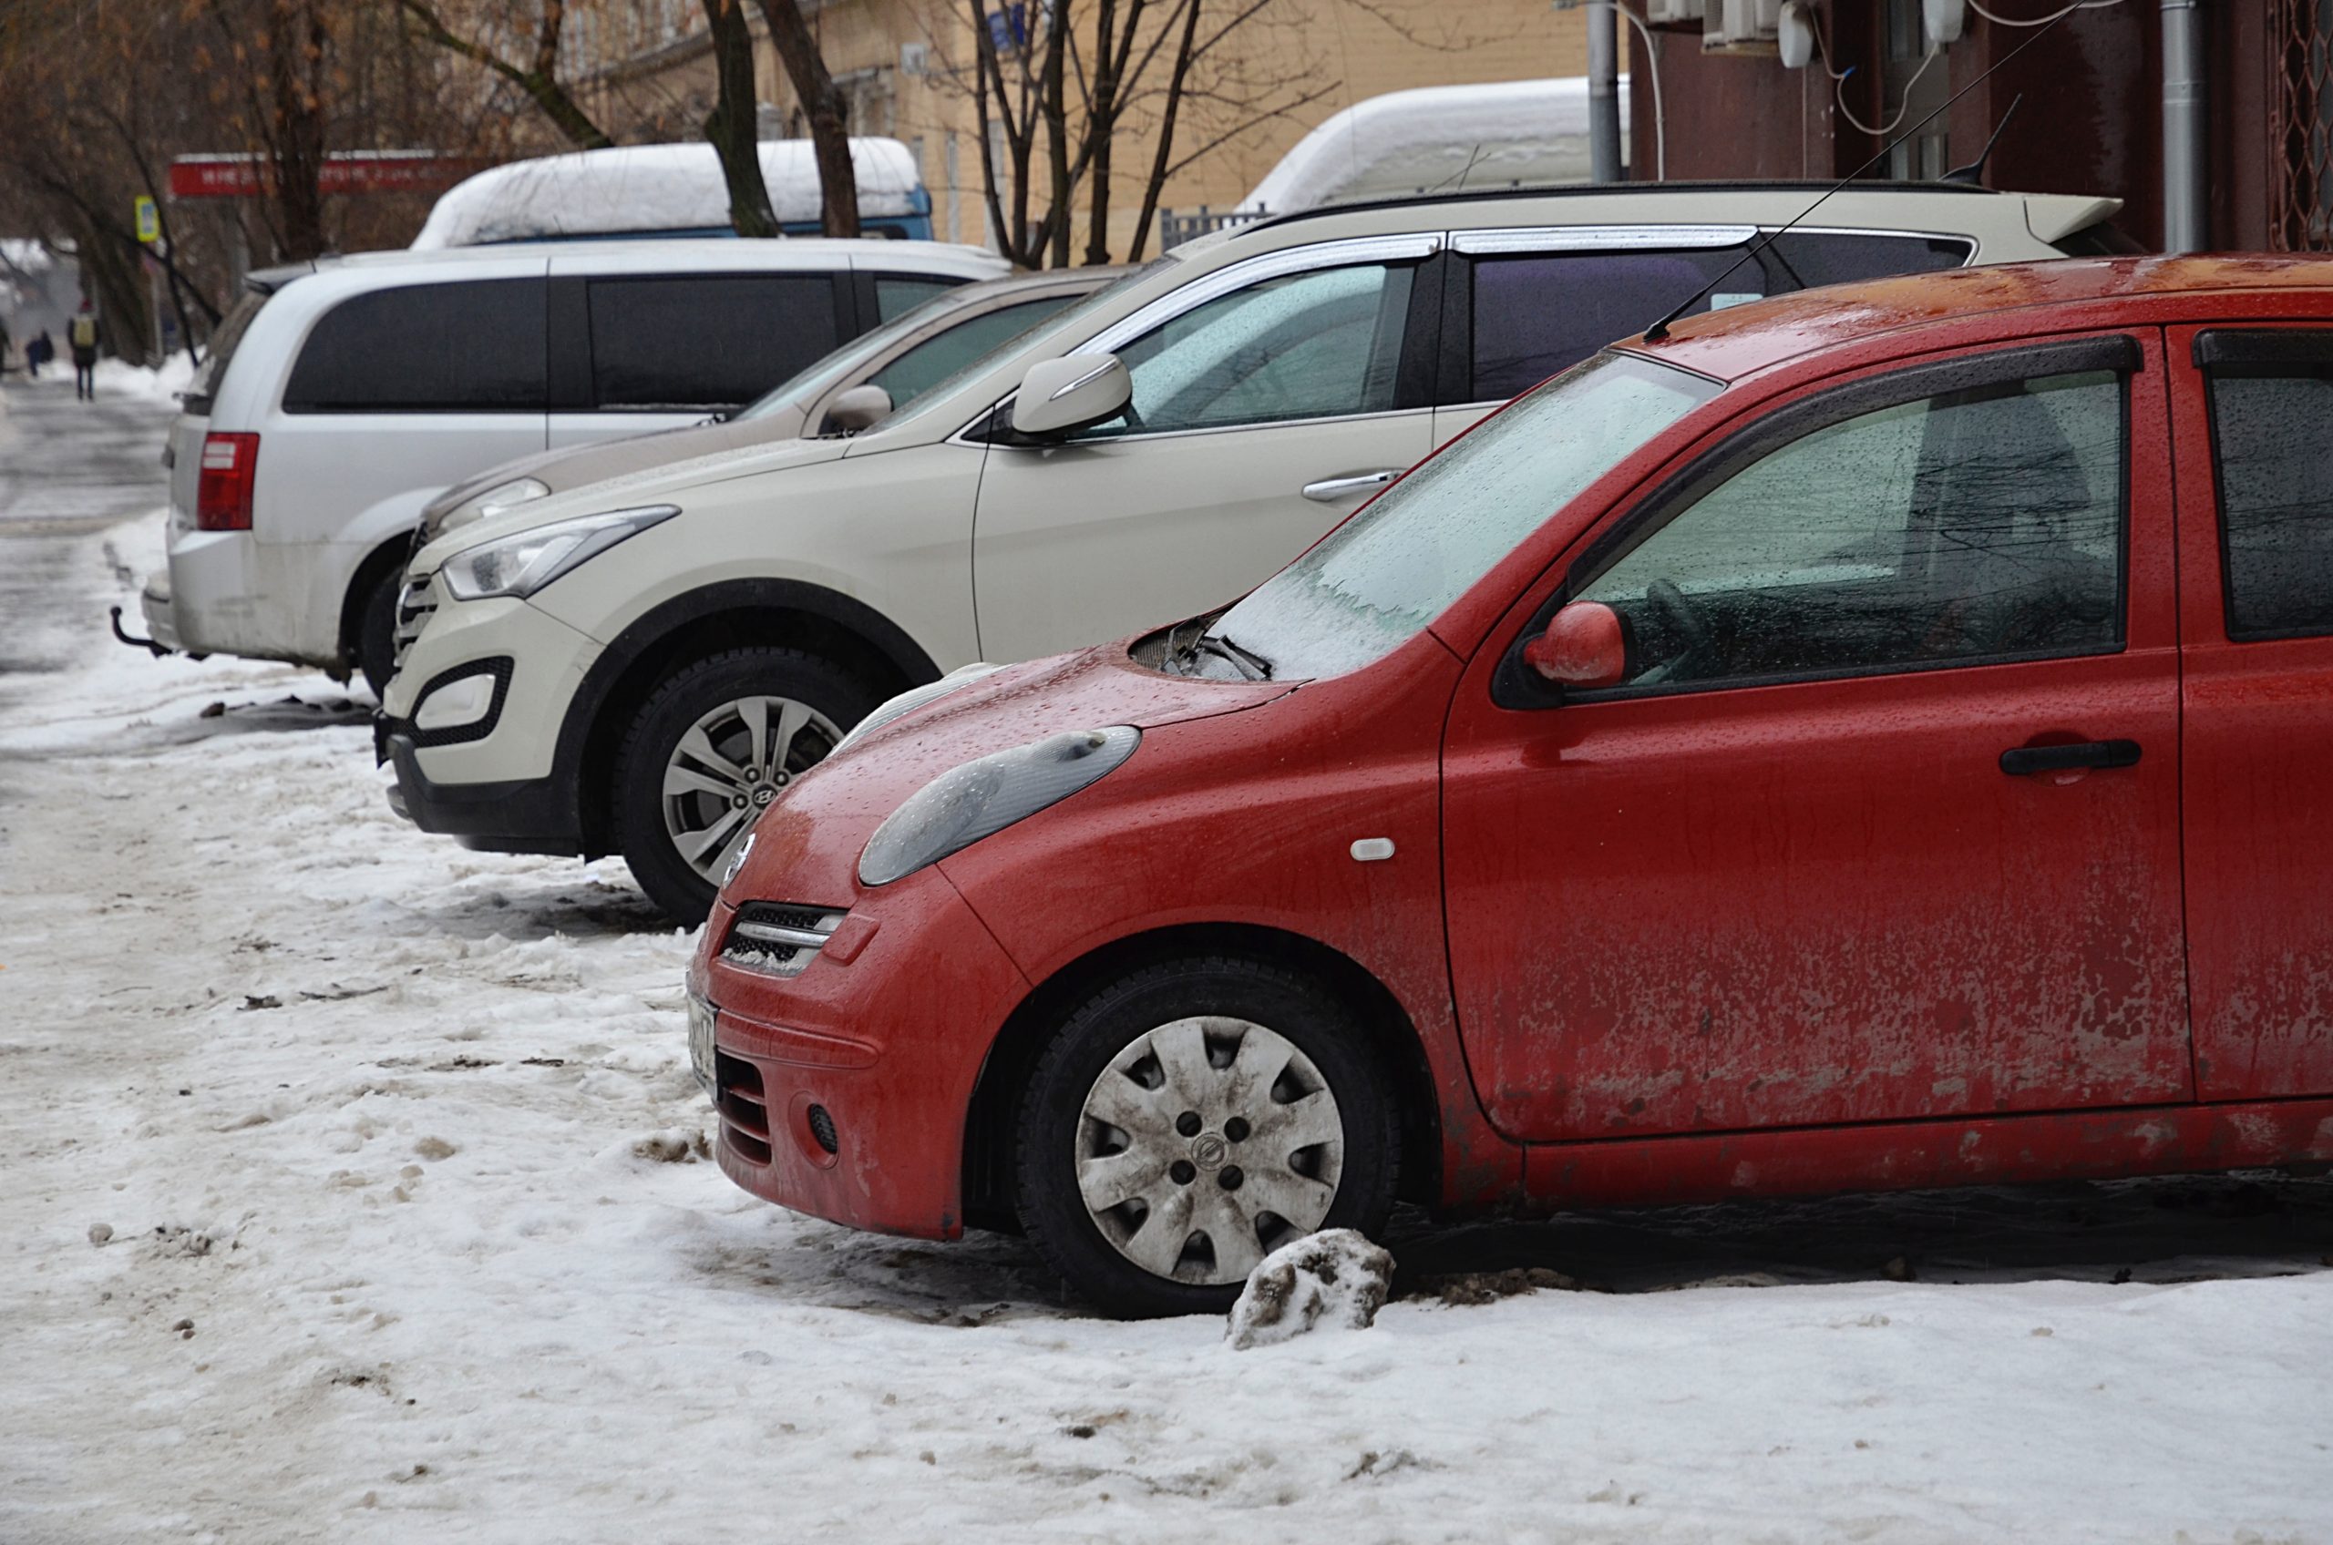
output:
[[[357,294],[308,331],[287,413],[541,413],[544,280]]]

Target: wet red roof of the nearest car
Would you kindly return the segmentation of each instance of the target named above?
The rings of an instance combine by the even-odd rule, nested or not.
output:
[[[1904,273],[1855,285],[1799,289],[1771,301],[1701,313],[1673,322],[1659,343],[1635,336],[1621,338],[1621,348],[1682,364],[1717,380],[1738,380],[1822,348],[1901,329],[1946,327],[2009,310],[2065,308],[2083,301],[2144,303],[2244,289],[2333,289],[2333,259],[2265,252],[2067,257],[2044,264]]]

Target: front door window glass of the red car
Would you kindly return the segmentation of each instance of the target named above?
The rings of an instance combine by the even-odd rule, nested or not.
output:
[[[1577,588],[1621,614],[1621,686],[1724,686],[2123,639],[2123,383],[1925,397],[1729,476]]]

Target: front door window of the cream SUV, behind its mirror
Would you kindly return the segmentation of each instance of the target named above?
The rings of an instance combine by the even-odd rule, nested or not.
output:
[[[1134,401],[1087,436],[1383,413],[1409,280],[1407,266],[1316,268],[1194,306],[1118,350]]]

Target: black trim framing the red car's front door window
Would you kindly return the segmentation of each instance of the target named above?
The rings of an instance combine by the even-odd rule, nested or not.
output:
[[[1759,415],[1717,446],[1703,450],[1647,497],[1638,499],[1617,523],[1598,532],[1565,565],[1563,581],[1533,607],[1530,621],[1507,642],[1498,667],[1491,674],[1491,700],[1507,709],[1549,709],[1558,705],[1628,702],[1638,698],[1677,698],[1691,693],[1743,691],[1754,686],[1789,686],[1799,681],[1841,681],[1862,677],[1897,677],[1929,670],[1967,670],[1971,665],[2016,665],[2027,660],[2097,658],[2130,649],[2130,460],[2132,460],[2132,394],[2130,380],[2146,366],[2146,350],[2128,331],[2095,334],[2086,338],[2058,338],[2048,343],[2013,343],[1978,355],[1955,359],[1932,359],[1897,371],[1866,376],[1845,385],[1817,390],[1789,401],[1773,413]],[[2018,380],[2041,380],[2048,376],[2090,376],[2111,371],[2121,378],[2123,392],[2123,464],[2121,464],[2121,562],[2116,574],[2116,642],[2111,649],[2027,649],[2016,653],[1964,656],[1953,660],[1908,660],[1904,665],[1855,665],[1838,670],[1806,670],[1764,677],[1729,677],[1724,681],[1654,681],[1649,686],[1600,686],[1563,688],[1523,665],[1523,644],[1547,630],[1549,618],[1561,611],[1582,586],[1600,579],[1614,562],[1635,551],[1652,532],[1684,513],[1703,495],[1726,483],[1736,474],[1754,467],[1768,455],[1792,446],[1808,434],[1829,429],[1850,418],[1901,408],[1927,397],[1948,392],[1974,392],[1983,387],[2011,385]]]

